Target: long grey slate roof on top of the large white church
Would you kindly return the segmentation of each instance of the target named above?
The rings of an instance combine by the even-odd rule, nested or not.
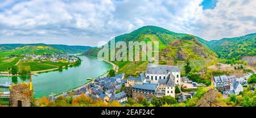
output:
[[[180,70],[177,66],[155,65],[152,63],[148,63],[146,68],[147,74],[167,75],[168,72],[180,72]]]

